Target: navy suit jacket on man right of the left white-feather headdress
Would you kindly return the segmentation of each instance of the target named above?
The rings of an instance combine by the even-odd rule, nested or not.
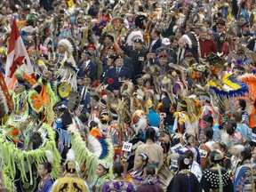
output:
[[[96,65],[92,63],[92,61],[89,62],[88,66],[85,68],[84,61],[80,60],[77,64],[77,67],[79,68],[78,77],[84,77],[85,75],[90,76],[91,80],[93,81],[95,74],[96,74]]]

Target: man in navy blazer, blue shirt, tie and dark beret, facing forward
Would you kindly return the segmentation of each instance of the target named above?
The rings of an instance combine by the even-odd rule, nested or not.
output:
[[[108,70],[107,77],[113,79],[113,84],[108,85],[108,90],[113,91],[115,95],[119,93],[119,88],[125,79],[131,79],[131,72],[129,68],[124,67],[124,60],[122,56],[117,55],[115,59],[115,68]]]

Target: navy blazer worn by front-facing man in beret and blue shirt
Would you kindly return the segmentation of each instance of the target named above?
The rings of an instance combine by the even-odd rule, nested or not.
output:
[[[107,73],[107,77],[114,80],[113,84],[108,85],[107,89],[110,91],[118,90],[122,85],[122,81],[124,81],[125,79],[131,79],[131,72],[129,68],[122,66],[119,74],[117,74],[116,70],[116,67],[110,68]]]

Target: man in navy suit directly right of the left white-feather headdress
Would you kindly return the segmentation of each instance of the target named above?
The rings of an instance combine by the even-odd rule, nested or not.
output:
[[[96,65],[92,63],[90,52],[84,51],[81,54],[81,60],[78,62],[78,77],[89,76],[91,81],[94,80],[96,74]]]

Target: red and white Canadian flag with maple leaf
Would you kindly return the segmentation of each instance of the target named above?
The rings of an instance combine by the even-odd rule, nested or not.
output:
[[[7,53],[8,54],[5,67],[5,82],[7,86],[9,86],[17,66],[19,66],[22,71],[25,71],[27,75],[34,75],[34,69],[29,60],[26,47],[21,39],[16,20],[12,20],[12,30]]]

